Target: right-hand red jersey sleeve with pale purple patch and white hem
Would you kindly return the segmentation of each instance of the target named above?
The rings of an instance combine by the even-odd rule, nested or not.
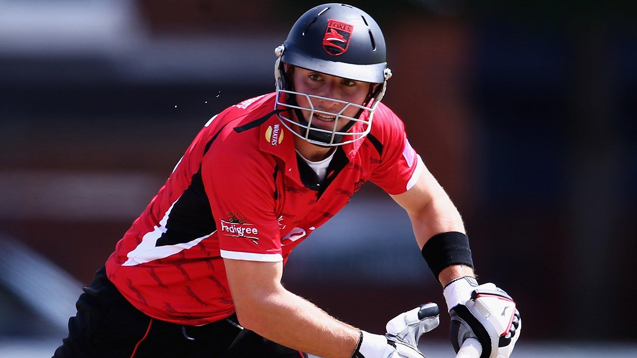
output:
[[[389,108],[383,108],[383,123],[376,140],[380,141],[380,164],[369,180],[385,190],[397,195],[412,189],[425,164],[407,140],[403,121]]]

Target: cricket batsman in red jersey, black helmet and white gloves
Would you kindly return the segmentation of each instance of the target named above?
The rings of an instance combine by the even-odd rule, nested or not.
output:
[[[208,120],[84,288],[54,357],[423,357],[435,304],[373,334],[281,284],[294,248],[369,180],[407,211],[456,352],[476,338],[482,358],[508,358],[519,313],[476,282],[460,214],[381,102],[391,71],[375,20],[317,6],[275,54],[276,91]]]

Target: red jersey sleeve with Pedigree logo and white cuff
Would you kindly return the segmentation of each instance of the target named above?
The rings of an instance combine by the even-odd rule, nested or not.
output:
[[[221,257],[283,261],[275,216],[273,162],[257,150],[250,153],[245,148],[222,150],[224,147],[211,148],[201,169]]]

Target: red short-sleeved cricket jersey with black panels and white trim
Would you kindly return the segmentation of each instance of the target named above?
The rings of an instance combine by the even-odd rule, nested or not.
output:
[[[211,118],[117,243],[106,272],[136,308],[178,324],[223,319],[234,305],[222,258],[285,262],[366,180],[401,194],[424,168],[380,103],[368,136],[338,147],[318,183],[274,110],[271,93]]]

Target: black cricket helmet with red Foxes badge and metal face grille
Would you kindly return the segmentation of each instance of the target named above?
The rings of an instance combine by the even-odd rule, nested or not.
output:
[[[371,120],[376,106],[385,94],[391,71],[387,68],[385,38],[376,21],[364,11],[347,4],[324,4],[316,6],[301,16],[287,36],[285,43],[276,47],[275,64],[276,108],[295,111],[298,121],[278,112],[278,117],[296,136],[321,147],[334,147],[364,138],[371,130]],[[350,80],[378,83],[370,91],[365,103],[351,103],[329,97],[296,92],[291,78],[287,78],[285,64],[297,66],[327,75]],[[285,94],[285,100],[281,94]],[[310,107],[297,104],[296,95],[304,96]],[[312,99],[345,104],[338,113],[315,110]],[[343,115],[350,106],[358,108],[355,117]],[[310,112],[306,120],[301,110]],[[368,111],[368,115],[361,115]],[[331,130],[313,127],[315,113],[333,116]],[[339,120],[349,121],[337,131]],[[362,125],[350,132],[357,122]],[[293,129],[300,127],[300,133]]]

